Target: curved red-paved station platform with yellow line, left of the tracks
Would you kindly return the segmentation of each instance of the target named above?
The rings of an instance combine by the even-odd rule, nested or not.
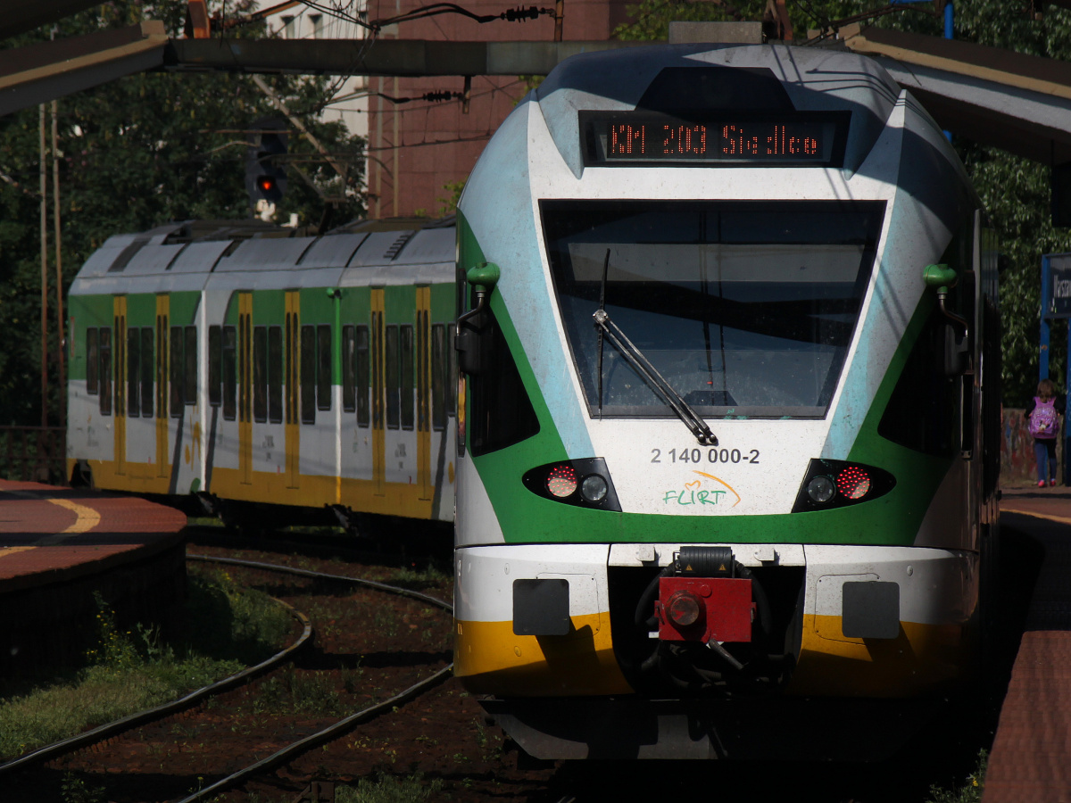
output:
[[[144,499],[0,480],[0,678],[66,664],[96,633],[166,626],[185,593],[186,517]]]

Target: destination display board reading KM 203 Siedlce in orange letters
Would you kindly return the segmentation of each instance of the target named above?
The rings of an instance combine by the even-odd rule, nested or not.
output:
[[[580,111],[586,167],[840,167],[850,111]]]

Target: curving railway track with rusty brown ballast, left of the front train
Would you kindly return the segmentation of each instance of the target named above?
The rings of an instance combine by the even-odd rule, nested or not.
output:
[[[142,712],[80,741],[50,745],[0,767],[0,799],[293,803],[312,782],[342,789],[361,779],[409,784],[406,788],[426,792],[426,800],[471,803],[586,803],[636,793],[688,793],[710,785],[727,799],[784,799],[786,788],[776,779],[784,767],[778,764],[749,766],[745,772],[728,762],[655,762],[613,772],[601,762],[518,767],[516,754],[502,748],[497,729],[483,722],[474,700],[444,677],[450,664],[449,605],[442,602],[450,593],[448,574],[439,575],[436,596],[427,589],[414,590],[411,581],[392,580],[397,566],[386,569],[381,561],[359,560],[353,554],[340,565],[310,557],[316,549],[293,544],[200,541],[206,543],[187,556],[192,569],[211,563],[241,585],[306,611],[304,619],[295,613],[300,636],[243,677],[177,701],[182,712]],[[363,673],[358,676],[359,669]],[[333,672],[348,673],[355,682],[344,695],[345,713],[277,710],[290,704],[280,694],[287,683],[296,687],[302,677],[321,675],[338,684]],[[963,747],[977,749],[969,743]],[[948,758],[925,763],[830,766],[824,781],[804,785],[803,799],[925,803],[931,784],[951,787],[969,771],[969,764]],[[951,770],[953,766],[961,769]],[[879,777],[885,781],[875,783]],[[58,791],[72,781],[102,791],[85,798]],[[346,798],[340,792],[337,800]]]

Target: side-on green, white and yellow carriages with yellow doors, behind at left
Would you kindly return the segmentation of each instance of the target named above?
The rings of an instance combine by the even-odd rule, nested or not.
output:
[[[243,524],[453,519],[452,221],[296,233],[180,223],[90,257],[69,298],[73,480]]]

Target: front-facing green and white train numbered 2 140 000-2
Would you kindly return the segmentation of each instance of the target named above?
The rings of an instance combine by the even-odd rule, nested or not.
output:
[[[969,680],[997,260],[880,66],[574,57],[495,134],[457,228],[455,671],[527,752],[820,755],[813,712],[903,723]],[[848,711],[869,749],[888,723]]]

